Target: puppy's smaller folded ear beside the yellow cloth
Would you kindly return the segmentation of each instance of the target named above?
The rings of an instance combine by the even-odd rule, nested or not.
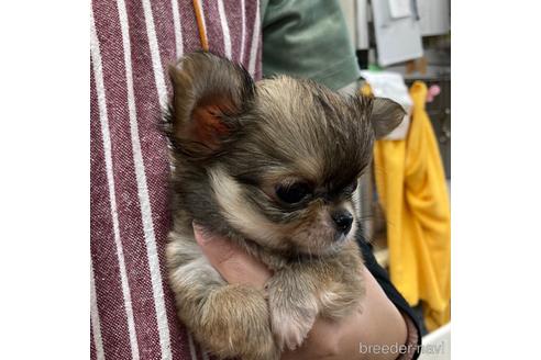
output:
[[[394,131],[404,120],[404,108],[386,98],[374,98],[372,102],[372,126],[376,138],[382,138]]]

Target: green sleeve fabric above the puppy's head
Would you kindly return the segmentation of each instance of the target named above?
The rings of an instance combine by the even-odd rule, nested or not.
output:
[[[332,90],[360,78],[336,0],[262,0],[263,76],[310,78]]]

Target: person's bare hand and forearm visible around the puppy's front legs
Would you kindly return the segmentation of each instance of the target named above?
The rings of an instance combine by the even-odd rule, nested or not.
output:
[[[203,236],[205,234],[205,236]],[[195,227],[196,239],[210,263],[229,283],[263,289],[272,272],[225,238]],[[405,345],[407,323],[372,273],[365,269],[366,297],[360,311],[341,322],[318,318],[302,346],[283,359],[396,359],[399,353],[374,346]],[[383,348],[382,348],[383,349]],[[385,352],[385,353],[383,353]]]

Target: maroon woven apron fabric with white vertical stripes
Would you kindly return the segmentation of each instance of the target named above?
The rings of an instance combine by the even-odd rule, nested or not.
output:
[[[261,78],[258,1],[200,0],[210,49]],[[200,48],[191,0],[93,0],[91,359],[208,359],[167,286],[166,65]]]

